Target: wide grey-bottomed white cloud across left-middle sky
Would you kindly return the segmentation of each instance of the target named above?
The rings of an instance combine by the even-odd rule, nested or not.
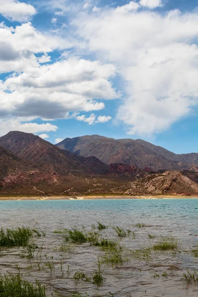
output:
[[[97,99],[119,96],[108,81],[114,72],[111,64],[72,58],[10,75],[0,84],[0,113],[55,119],[100,110],[104,103]]]

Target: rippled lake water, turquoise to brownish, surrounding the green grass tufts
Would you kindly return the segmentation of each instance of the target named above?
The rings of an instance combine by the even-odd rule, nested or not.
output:
[[[83,270],[91,275],[97,268],[98,256],[104,251],[89,244],[77,245],[66,253],[54,251],[53,247],[60,245],[62,235],[52,231],[74,227],[82,230],[82,226],[83,230],[90,231],[97,221],[134,231],[135,239],[119,239],[111,227],[101,231],[103,237],[119,240],[131,250],[153,245],[160,235],[171,235],[180,239],[182,252],[153,252],[149,261],[131,258],[123,265],[105,265],[105,280],[98,289],[88,282],[76,282],[72,279],[74,273]],[[138,228],[139,222],[146,226]],[[105,296],[111,292],[115,297],[198,296],[198,285],[187,285],[183,279],[186,268],[198,271],[198,258],[187,252],[198,242],[198,199],[0,201],[0,227],[22,225],[46,232],[45,238],[37,239],[37,245],[43,247],[41,257],[40,250],[36,251],[34,259],[27,259],[19,256],[19,248],[3,248],[0,250],[0,271],[14,272],[16,265],[20,266],[24,278],[38,279],[47,285],[47,296],[54,291],[62,296],[71,296],[72,292],[89,296]],[[156,238],[149,239],[148,233]],[[39,271],[40,258],[41,267],[44,262],[52,261],[54,271],[46,268]],[[159,277],[152,277],[154,273]],[[167,277],[161,276],[163,273],[167,273]]]

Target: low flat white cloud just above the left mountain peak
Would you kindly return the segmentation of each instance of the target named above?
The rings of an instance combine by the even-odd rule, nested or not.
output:
[[[0,119],[0,136],[5,135],[9,131],[21,131],[27,133],[55,132],[58,127],[46,124],[30,123],[31,118],[15,117],[11,119]]]

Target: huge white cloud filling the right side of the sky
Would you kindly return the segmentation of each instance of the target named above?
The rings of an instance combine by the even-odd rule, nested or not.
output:
[[[160,14],[133,6],[83,13],[74,23],[87,50],[125,80],[117,119],[129,134],[159,133],[198,104],[198,11]]]

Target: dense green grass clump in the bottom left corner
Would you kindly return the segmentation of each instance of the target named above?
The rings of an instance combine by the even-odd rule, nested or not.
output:
[[[0,276],[1,297],[46,297],[45,286],[39,282],[31,284],[22,280],[20,273]]]

